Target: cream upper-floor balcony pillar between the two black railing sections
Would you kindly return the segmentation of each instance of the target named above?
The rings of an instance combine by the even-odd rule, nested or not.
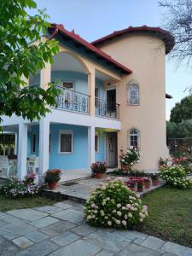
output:
[[[96,71],[95,68],[91,69],[88,75],[88,94],[90,95],[90,115],[95,115],[95,89],[96,89]]]

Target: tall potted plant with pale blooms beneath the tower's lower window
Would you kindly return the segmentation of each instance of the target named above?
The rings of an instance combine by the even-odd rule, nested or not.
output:
[[[131,167],[139,163],[140,154],[137,148],[130,147],[126,154],[123,153],[123,149],[120,150],[120,164],[123,171],[131,171]]]

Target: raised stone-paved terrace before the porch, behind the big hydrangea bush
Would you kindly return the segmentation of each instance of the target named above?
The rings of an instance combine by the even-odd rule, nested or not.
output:
[[[115,179],[116,177],[108,175],[111,179]],[[127,181],[129,177],[122,177],[124,181]],[[95,190],[102,183],[108,183],[107,177],[103,177],[101,179],[98,178],[86,178],[86,179],[79,179],[74,180],[72,183],[73,185],[68,186],[68,183],[60,183],[59,186],[54,190],[46,189],[47,191],[52,191],[55,193],[61,193],[62,195],[67,195],[69,199],[76,198],[80,201],[86,201],[91,191]],[[164,183],[161,182],[160,186]],[[142,193],[137,193],[138,195],[146,194],[154,189],[158,189],[160,186],[154,187],[151,185],[150,189],[143,189]]]

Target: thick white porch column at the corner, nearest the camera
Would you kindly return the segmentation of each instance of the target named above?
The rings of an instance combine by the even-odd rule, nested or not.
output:
[[[49,169],[49,121],[42,118],[39,122],[39,183],[44,172]]]

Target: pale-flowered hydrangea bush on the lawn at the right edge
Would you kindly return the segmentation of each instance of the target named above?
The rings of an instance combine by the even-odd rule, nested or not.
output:
[[[192,188],[192,181],[186,177],[186,172],[181,166],[169,166],[160,169],[160,177],[166,180],[166,183],[178,189]]]

